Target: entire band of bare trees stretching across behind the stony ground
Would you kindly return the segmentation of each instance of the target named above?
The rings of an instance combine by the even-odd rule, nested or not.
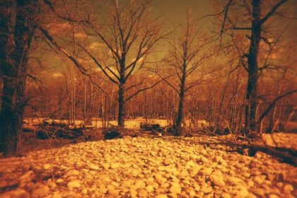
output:
[[[119,127],[128,117],[162,118],[178,132],[185,122],[206,120],[246,134],[293,119],[296,41],[288,33],[295,2],[214,1],[214,14],[203,16],[213,30],[190,10],[185,23],[163,30],[148,0],[110,1],[104,13],[93,7],[92,1],[1,1],[6,156],[16,152],[23,116],[38,113],[69,124],[117,118]],[[47,74],[51,57],[64,70]]]

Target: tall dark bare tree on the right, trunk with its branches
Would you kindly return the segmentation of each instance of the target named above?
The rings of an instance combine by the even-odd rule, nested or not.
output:
[[[257,129],[257,98],[258,98],[258,79],[260,71],[276,67],[267,64],[267,59],[270,57],[268,53],[267,59],[264,60],[264,65],[260,65],[260,42],[267,45],[272,45],[272,41],[265,37],[267,32],[264,32],[265,25],[272,16],[279,14],[278,11],[289,0],[280,1],[261,1],[261,0],[228,0],[223,5],[223,10],[215,16],[219,16],[222,25],[220,36],[226,32],[241,31],[246,34],[249,39],[248,52],[245,52],[240,59],[245,59],[243,66],[248,71],[248,82],[246,89],[246,105],[245,105],[245,128],[248,131]],[[267,9],[268,8],[268,9]],[[266,34],[265,34],[266,33]],[[222,37],[221,37],[222,40]]]

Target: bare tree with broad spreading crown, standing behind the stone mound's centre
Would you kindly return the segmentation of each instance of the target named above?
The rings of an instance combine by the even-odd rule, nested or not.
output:
[[[53,8],[52,4],[47,4]],[[88,58],[92,64],[98,66],[105,77],[118,88],[118,125],[124,127],[125,103],[134,95],[148,88],[156,86],[160,81],[153,83],[146,88],[140,88],[136,93],[126,96],[126,84],[130,76],[136,74],[149,62],[148,57],[154,52],[156,44],[165,38],[168,34],[161,34],[162,24],[158,23],[158,18],[151,18],[148,13],[150,1],[139,2],[130,1],[129,4],[119,6],[117,1],[112,1],[112,8],[108,13],[109,21],[97,25],[88,20],[74,20],[69,16],[63,17],[66,21],[83,22],[84,28],[88,29],[88,34],[97,40],[104,48],[107,57],[98,57],[88,47],[76,41],[79,52],[71,55],[66,52],[54,38],[44,28],[40,28],[42,33],[55,45],[60,51],[66,54],[76,66],[86,74],[86,69],[78,62],[77,54],[80,57]],[[54,8],[53,8],[54,10]],[[106,56],[106,54],[105,54]],[[133,85],[132,85],[133,86]]]

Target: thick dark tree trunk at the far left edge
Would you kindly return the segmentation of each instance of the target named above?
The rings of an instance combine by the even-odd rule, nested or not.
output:
[[[13,30],[13,6],[16,25]],[[1,1],[1,75],[3,91],[0,114],[0,152],[10,156],[17,151],[25,105],[25,75],[30,43],[35,32],[37,1]]]

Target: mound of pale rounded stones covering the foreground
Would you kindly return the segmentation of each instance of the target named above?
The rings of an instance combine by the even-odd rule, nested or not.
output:
[[[220,142],[124,137],[33,151],[0,160],[0,197],[297,196],[296,167]]]

